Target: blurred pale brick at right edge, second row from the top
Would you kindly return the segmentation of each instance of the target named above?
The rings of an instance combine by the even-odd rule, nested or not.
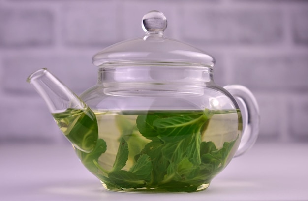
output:
[[[308,57],[294,53],[242,55],[233,62],[233,80],[254,90],[308,90]]]

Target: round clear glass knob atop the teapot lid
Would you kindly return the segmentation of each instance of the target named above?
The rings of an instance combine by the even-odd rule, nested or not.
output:
[[[142,29],[145,32],[163,32],[167,27],[167,18],[162,12],[153,10],[142,18]]]

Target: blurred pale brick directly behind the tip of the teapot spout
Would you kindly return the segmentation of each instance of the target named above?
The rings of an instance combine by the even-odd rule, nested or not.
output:
[[[96,69],[91,62],[91,56],[75,55],[60,56],[19,56],[5,57],[3,62],[3,89],[7,93],[26,93],[37,96],[33,88],[25,83],[27,77],[37,69],[48,68],[56,74],[67,86],[76,93],[81,93],[96,83]],[[72,75],[70,75],[72,74]]]

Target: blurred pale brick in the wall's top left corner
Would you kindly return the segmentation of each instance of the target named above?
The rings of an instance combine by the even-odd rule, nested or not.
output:
[[[51,45],[52,21],[53,16],[47,9],[1,6],[0,45],[7,48]]]

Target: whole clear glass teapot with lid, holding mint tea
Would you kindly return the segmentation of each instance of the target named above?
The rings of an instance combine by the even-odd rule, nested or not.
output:
[[[216,85],[215,59],[166,38],[166,27],[166,17],[151,11],[142,19],[145,36],[97,53],[97,85],[80,97],[47,69],[28,78],[80,161],[106,189],[206,189],[257,138],[252,93]]]

